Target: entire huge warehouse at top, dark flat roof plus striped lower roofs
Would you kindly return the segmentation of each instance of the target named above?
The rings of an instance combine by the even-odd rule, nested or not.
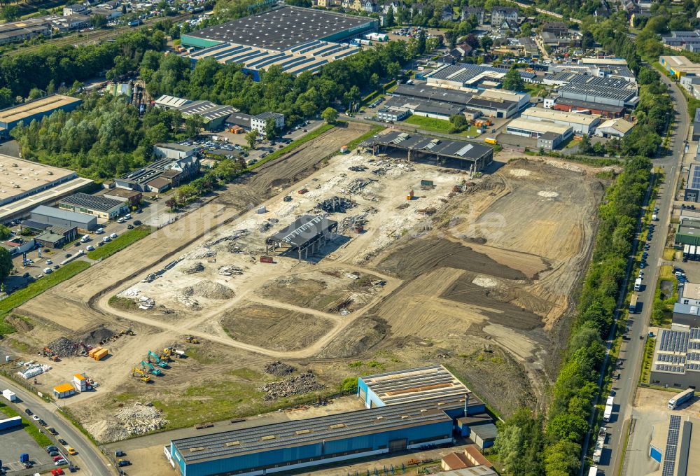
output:
[[[337,41],[375,31],[377,20],[296,6],[281,6],[182,36],[182,44],[203,48],[193,61],[214,57],[220,63],[244,64],[253,79],[272,65],[299,74],[359,51]]]

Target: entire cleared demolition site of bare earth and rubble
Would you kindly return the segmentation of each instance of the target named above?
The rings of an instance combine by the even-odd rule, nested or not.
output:
[[[99,442],[276,409],[294,419],[325,398],[343,407],[348,377],[427,363],[504,416],[546,401],[601,169],[320,162],[366,130],[309,141],[30,300],[1,345],[51,367],[37,388],[76,372],[97,383],[64,404]],[[59,358],[37,355],[61,338]]]

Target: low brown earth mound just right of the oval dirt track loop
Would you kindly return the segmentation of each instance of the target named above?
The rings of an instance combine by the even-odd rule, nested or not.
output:
[[[381,342],[388,333],[388,325],[379,318],[362,317],[348,325],[332,339],[318,358],[355,357]]]

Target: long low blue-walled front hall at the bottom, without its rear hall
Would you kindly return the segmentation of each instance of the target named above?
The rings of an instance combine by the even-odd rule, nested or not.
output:
[[[286,421],[172,440],[165,454],[183,476],[264,475],[453,441],[463,398]]]

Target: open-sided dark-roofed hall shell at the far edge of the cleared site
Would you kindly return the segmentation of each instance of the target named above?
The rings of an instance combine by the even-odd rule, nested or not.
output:
[[[493,162],[493,149],[482,144],[466,141],[436,139],[421,134],[391,131],[381,136],[367,139],[360,148],[371,149],[376,155],[379,151],[405,151],[407,159],[427,160],[444,167],[468,169],[474,167],[479,172]]]

